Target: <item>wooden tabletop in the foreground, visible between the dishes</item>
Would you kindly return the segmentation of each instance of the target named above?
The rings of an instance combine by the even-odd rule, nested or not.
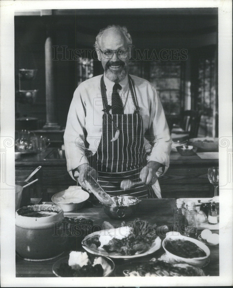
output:
[[[139,206],[139,211],[137,215],[129,217],[127,221],[133,221],[135,218],[139,217],[142,220],[149,221],[150,224],[168,225],[169,228],[173,224],[173,208],[176,206],[175,199],[142,199]],[[110,219],[103,211],[102,206],[95,202],[87,202],[87,204],[78,212],[65,212],[67,217],[85,217],[87,219],[92,219],[95,226],[101,227],[103,221],[110,222],[114,227],[121,224],[121,220],[112,220]],[[198,231],[200,234],[201,231]],[[164,239],[164,235],[160,236],[161,240]],[[219,276],[219,246],[209,247],[210,254],[210,263],[203,268],[206,275],[210,276]],[[82,247],[78,249],[84,251]],[[137,258],[140,260],[149,260],[153,257],[159,258],[165,251],[161,247],[159,250],[153,254],[147,255],[145,257]],[[69,254],[69,247],[67,251],[63,253],[62,256],[57,257],[56,259],[43,261],[43,262],[29,262],[23,259],[20,259],[16,256],[16,277],[55,277],[52,272],[53,264],[60,258]],[[124,264],[127,260],[116,261],[115,270],[116,274],[119,269],[119,265]],[[113,272],[112,276],[116,276]],[[119,275],[117,275],[119,276]]]

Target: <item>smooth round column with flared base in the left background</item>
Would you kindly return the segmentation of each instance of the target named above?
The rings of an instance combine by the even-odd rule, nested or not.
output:
[[[54,89],[54,67],[53,67],[52,38],[47,37],[45,41],[45,84],[46,84],[46,124],[45,130],[60,130],[55,116],[55,89]]]

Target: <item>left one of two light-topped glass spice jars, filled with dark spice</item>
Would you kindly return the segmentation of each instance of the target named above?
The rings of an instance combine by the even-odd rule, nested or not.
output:
[[[174,228],[173,230],[181,234],[185,230],[185,207],[184,199],[176,199],[176,208],[174,208]]]

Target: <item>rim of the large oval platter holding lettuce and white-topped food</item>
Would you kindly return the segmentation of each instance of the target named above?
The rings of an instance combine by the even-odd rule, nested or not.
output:
[[[105,231],[107,231],[107,230],[105,230]],[[93,232],[93,233],[87,235],[83,239],[83,241],[87,240],[88,238],[91,238],[94,235],[100,235],[102,232],[103,232],[103,230]],[[82,241],[82,244],[83,244],[83,241]],[[117,255],[116,253],[108,253],[103,248],[99,248],[99,247],[95,248],[93,246],[94,245],[92,245],[91,247],[87,247],[87,246],[82,245],[82,247],[87,252],[89,252],[91,254],[95,254],[95,255],[99,255],[99,256],[106,256],[106,257],[110,257],[110,258],[114,258],[114,259],[131,259],[131,258],[138,258],[138,257],[146,256],[146,255],[149,255],[149,254],[154,253],[155,251],[159,250],[159,248],[161,247],[161,239],[159,238],[159,236],[156,237],[155,241],[151,244],[151,247],[146,252],[141,253],[141,254],[136,254],[136,255]]]

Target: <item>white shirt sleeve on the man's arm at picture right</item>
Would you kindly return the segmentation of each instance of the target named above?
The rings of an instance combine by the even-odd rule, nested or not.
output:
[[[150,134],[155,137],[155,143],[151,149],[148,161],[156,161],[161,164],[161,167],[157,171],[157,176],[161,176],[169,167],[172,138],[170,136],[164,109],[154,87],[152,87],[152,94]]]

